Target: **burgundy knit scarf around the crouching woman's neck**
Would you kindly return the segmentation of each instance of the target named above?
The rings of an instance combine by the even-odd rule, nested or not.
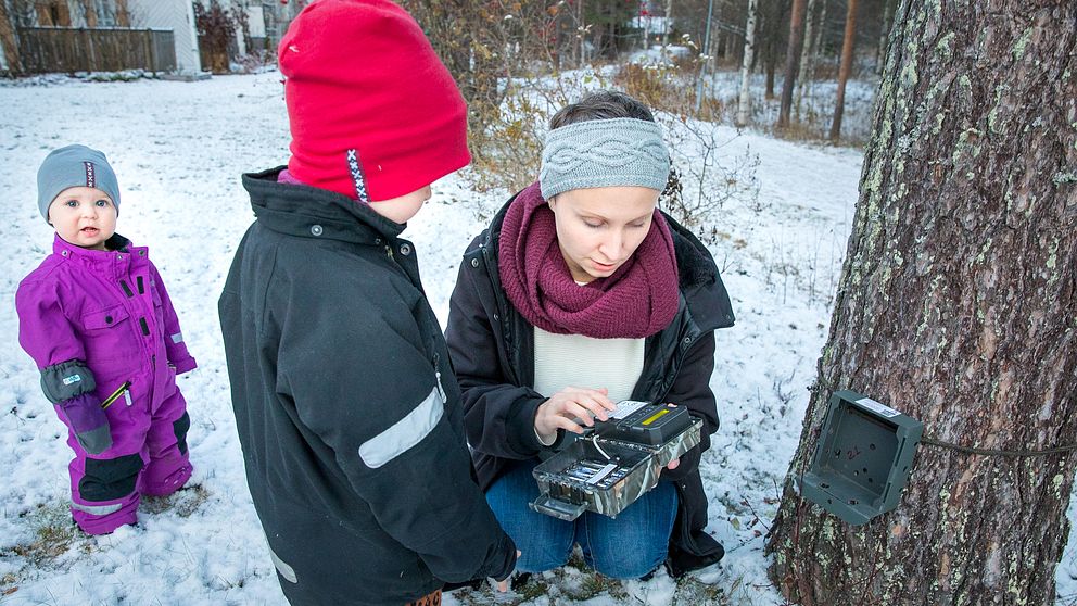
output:
[[[611,276],[581,287],[557,245],[554,212],[533,184],[505,214],[497,267],[508,300],[547,332],[641,339],[666,328],[676,315],[673,238],[657,210],[632,257]]]

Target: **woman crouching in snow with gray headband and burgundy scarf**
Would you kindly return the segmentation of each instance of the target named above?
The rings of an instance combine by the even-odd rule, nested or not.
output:
[[[446,338],[479,481],[523,553],[520,571],[561,566],[576,543],[619,579],[663,563],[680,576],[723,555],[704,532],[698,463],[719,422],[714,330],[733,312],[710,253],[657,210],[669,174],[650,111],[590,94],[553,117],[538,181],[464,255]],[[629,399],[687,406],[705,421],[702,442],[616,519],[531,510],[540,460]]]

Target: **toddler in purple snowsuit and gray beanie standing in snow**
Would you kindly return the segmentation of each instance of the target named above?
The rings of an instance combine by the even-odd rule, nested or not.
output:
[[[176,375],[195,367],[157,268],[115,232],[119,186],[104,154],[53,151],[38,169],[52,254],[18,285],[18,343],[75,451],[72,516],[89,534],[135,523],[140,495],[191,477]]]

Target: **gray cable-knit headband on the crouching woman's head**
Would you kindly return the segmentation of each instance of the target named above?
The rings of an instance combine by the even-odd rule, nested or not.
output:
[[[555,128],[542,150],[538,187],[546,200],[572,189],[639,186],[662,191],[670,154],[657,124],[592,119]]]

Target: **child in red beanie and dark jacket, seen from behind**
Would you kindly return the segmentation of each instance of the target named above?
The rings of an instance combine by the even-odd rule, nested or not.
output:
[[[279,47],[288,166],[219,301],[248,482],[292,604],[436,603],[511,572],[404,223],[469,161],[466,108],[415,21],[320,0]]]

